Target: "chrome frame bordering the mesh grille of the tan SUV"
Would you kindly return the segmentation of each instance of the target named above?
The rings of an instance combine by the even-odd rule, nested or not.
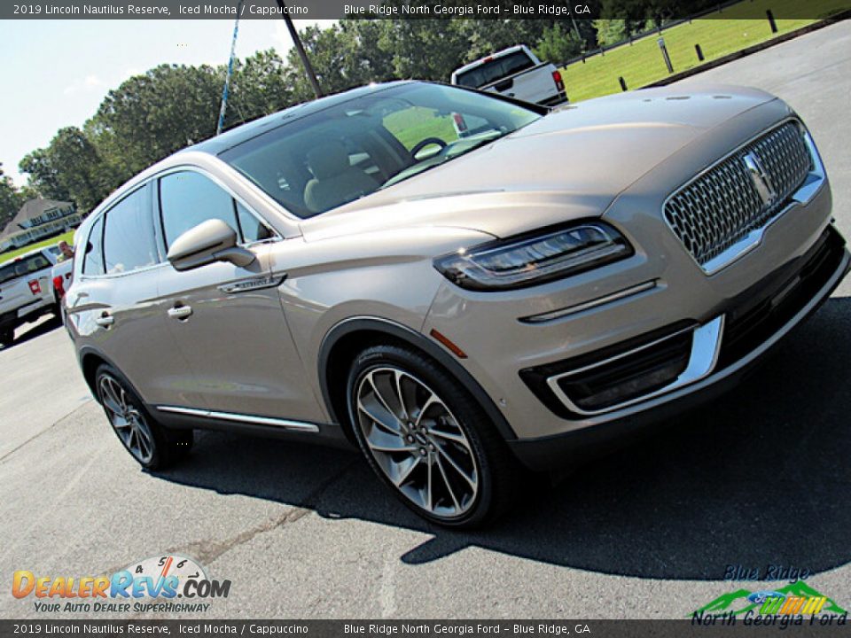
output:
[[[714,170],[715,167],[718,167],[722,162],[730,159],[733,155],[740,152],[749,144],[753,144],[756,140],[760,139],[763,136],[768,135],[771,131],[784,126],[788,122],[796,123],[801,131],[801,136],[804,138],[804,144],[807,145],[807,149],[809,151],[810,157],[813,160],[813,168],[809,171],[807,178],[804,180],[804,183],[801,184],[800,188],[797,191],[794,191],[792,195],[789,196],[789,204],[784,206],[777,214],[773,215],[769,218],[769,220],[762,224],[762,226],[758,229],[754,229],[749,232],[745,237],[742,237],[733,245],[730,245],[726,250],[722,253],[716,255],[711,260],[706,263],[701,264],[690,251],[685,250],[684,252],[689,255],[691,261],[694,261],[698,265],[698,268],[704,271],[707,276],[713,276],[720,272],[722,269],[727,268],[732,265],[734,262],[738,261],[742,257],[744,257],[747,253],[750,253],[762,243],[762,237],[764,237],[765,232],[769,229],[769,227],[777,222],[781,217],[783,217],[786,213],[789,212],[795,206],[806,206],[810,200],[816,197],[818,191],[821,191],[824,183],[826,182],[826,173],[824,171],[824,164],[822,163],[821,156],[818,154],[818,150],[816,149],[816,143],[813,141],[812,136],[809,133],[809,130],[804,123],[800,121],[797,117],[787,117],[782,121],[778,121],[776,124],[771,126],[770,128],[766,128],[762,130],[759,134],[748,139],[744,144],[739,144],[735,149],[724,155],[722,158],[717,159],[711,165],[704,168],[697,175],[694,175],[687,182],[682,183],[677,186],[674,191],[665,198],[665,201],[662,202],[662,219],[665,222],[665,225],[668,227],[668,230],[671,231],[671,234],[676,237],[677,241],[682,245],[683,242],[677,237],[674,228],[671,226],[670,222],[668,222],[668,216],[665,214],[665,208],[668,206],[668,201],[671,198],[674,198],[677,193],[683,191],[683,189],[687,188],[691,185],[691,183],[697,182],[703,175],[706,175],[710,171]]]

